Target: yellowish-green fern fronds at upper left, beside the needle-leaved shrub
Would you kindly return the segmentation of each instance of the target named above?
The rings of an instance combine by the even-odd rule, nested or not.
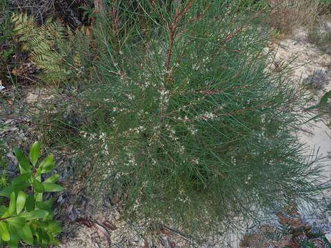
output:
[[[38,68],[48,74],[68,76],[68,70],[63,65],[68,56],[74,57],[74,34],[68,25],[52,19],[37,25],[33,17],[28,17],[26,13],[12,14],[12,22],[15,37],[23,43],[22,49],[30,52]]]

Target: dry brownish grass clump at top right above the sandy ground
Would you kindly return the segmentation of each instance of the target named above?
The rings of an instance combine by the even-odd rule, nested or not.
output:
[[[270,24],[287,34],[302,25],[311,27],[320,12],[319,0],[270,0],[270,5]]]

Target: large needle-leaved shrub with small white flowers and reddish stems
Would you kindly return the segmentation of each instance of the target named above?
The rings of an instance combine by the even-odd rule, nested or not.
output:
[[[199,235],[311,199],[319,167],[296,137],[310,94],[268,70],[261,12],[138,2],[114,1],[95,23],[95,74],[47,126],[57,140],[56,120],[76,132],[62,145],[90,161],[90,196],[119,194],[129,220]],[[72,125],[63,115],[76,105],[86,118]]]

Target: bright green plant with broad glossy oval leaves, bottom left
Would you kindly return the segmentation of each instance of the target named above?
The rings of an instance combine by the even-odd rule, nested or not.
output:
[[[0,206],[0,245],[19,246],[19,241],[28,245],[57,245],[56,236],[61,232],[59,221],[52,220],[54,199],[43,200],[43,192],[61,192],[56,184],[59,175],[53,174],[41,180],[41,174],[52,172],[54,156],[47,156],[38,165],[40,144],[30,148],[30,161],[21,149],[14,149],[21,174],[8,187],[0,190],[0,196],[8,198]],[[5,201],[6,202],[6,201]]]

